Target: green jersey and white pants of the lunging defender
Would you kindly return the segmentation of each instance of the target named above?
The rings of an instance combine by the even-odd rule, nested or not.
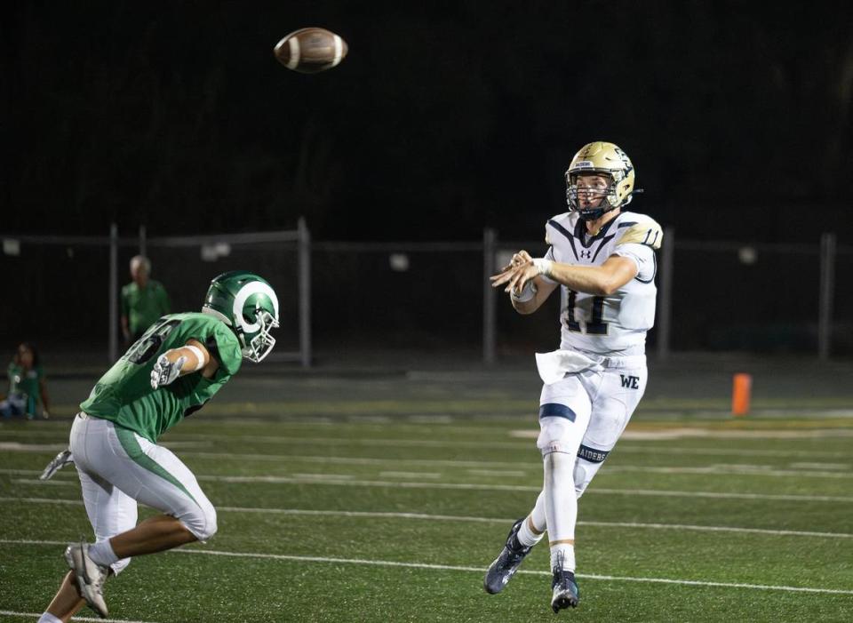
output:
[[[151,369],[159,355],[201,342],[219,362],[211,379],[201,371],[153,389]],[[137,502],[177,517],[199,540],[216,531],[216,511],[195,475],[171,451],[156,444],[163,432],[211,399],[240,368],[241,346],[218,317],[165,315],[110,368],[71,427],[84,504],[97,540],[136,525]],[[129,559],[113,564],[116,573]]]

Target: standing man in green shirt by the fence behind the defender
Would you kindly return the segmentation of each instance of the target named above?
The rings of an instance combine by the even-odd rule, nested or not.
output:
[[[170,311],[169,295],[160,282],[149,279],[151,262],[144,255],[131,260],[132,283],[122,288],[122,332],[130,345]]]

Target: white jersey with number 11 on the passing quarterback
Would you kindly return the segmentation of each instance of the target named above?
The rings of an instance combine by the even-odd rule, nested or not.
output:
[[[640,355],[646,331],[655,322],[655,251],[663,231],[644,214],[621,212],[598,234],[586,233],[575,212],[558,214],[546,223],[548,260],[576,266],[601,266],[611,255],[634,260],[638,273],[610,296],[575,292],[562,286],[562,349],[598,355]],[[543,276],[547,282],[556,283]]]

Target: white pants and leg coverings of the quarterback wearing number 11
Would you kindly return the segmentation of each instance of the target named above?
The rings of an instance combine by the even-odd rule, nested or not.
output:
[[[551,542],[574,539],[577,499],[625,430],[646,388],[644,356],[567,374],[542,387],[539,435],[545,483],[530,519]]]

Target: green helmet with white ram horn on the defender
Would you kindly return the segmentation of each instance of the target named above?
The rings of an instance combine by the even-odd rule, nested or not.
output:
[[[278,326],[278,297],[267,281],[254,273],[232,270],[213,277],[202,311],[215,315],[236,333],[243,356],[258,363],[269,355]]]

